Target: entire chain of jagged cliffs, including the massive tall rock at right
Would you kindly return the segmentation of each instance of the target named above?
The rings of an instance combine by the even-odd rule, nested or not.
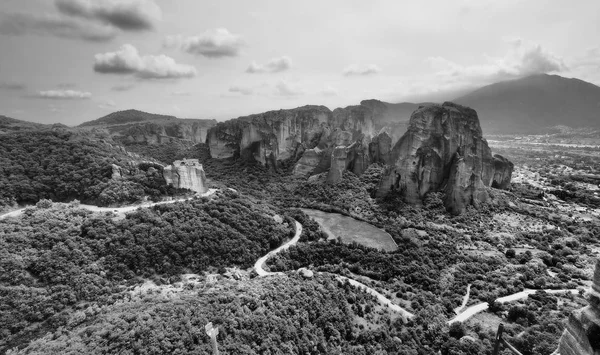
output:
[[[277,167],[297,158],[294,174],[328,171],[339,182],[345,170],[361,175],[370,164],[386,166],[378,195],[402,192],[420,204],[428,192],[446,193],[446,207],[461,213],[488,198],[487,188],[507,188],[512,163],[492,157],[477,113],[453,103],[420,106],[395,142],[389,105],[377,100],[330,111],[304,106],[221,122],[208,132],[213,158],[241,157]],[[398,121],[401,122],[401,121]]]

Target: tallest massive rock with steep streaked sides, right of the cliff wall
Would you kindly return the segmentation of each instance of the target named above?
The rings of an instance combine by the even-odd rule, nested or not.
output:
[[[406,202],[421,204],[427,193],[444,191],[453,213],[487,200],[493,158],[473,109],[450,102],[419,107],[391,155],[380,196],[398,190]]]

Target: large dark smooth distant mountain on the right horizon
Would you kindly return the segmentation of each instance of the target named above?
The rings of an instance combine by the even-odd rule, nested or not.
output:
[[[453,100],[475,109],[485,134],[543,133],[600,127],[600,87],[558,75],[532,75],[484,86]]]

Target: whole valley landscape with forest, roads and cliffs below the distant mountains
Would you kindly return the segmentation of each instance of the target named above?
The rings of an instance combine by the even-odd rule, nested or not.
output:
[[[114,353],[157,338],[158,352],[209,351],[208,322],[231,353],[490,354],[499,323],[525,354],[556,349],[600,257],[595,142],[486,140],[472,111],[449,103],[418,108],[394,136],[373,128],[389,109],[270,112],[197,144],[42,128],[101,173],[84,182],[78,160],[65,160],[68,176],[31,163],[52,177],[37,190],[4,175],[1,323],[12,325],[0,349]],[[463,138],[437,145],[446,115],[444,134]],[[282,123],[296,135],[275,134]],[[21,156],[36,158],[21,161],[40,159],[10,134],[4,149],[24,142]]]

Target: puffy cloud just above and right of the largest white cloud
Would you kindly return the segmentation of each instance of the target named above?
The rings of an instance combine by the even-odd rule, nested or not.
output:
[[[167,36],[164,46],[179,48],[187,53],[207,58],[237,57],[244,41],[226,28],[208,30],[198,36]]]

